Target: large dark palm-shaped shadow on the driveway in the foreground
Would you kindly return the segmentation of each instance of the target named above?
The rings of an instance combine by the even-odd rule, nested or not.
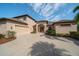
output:
[[[64,49],[55,48],[54,44],[48,42],[36,42],[32,47],[28,55],[31,56],[70,56],[63,52],[68,52]]]

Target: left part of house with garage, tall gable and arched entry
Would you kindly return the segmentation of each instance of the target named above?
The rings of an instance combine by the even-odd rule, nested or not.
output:
[[[13,18],[0,18],[0,33],[15,31],[16,35],[29,34],[31,32],[45,32],[48,21],[36,21],[29,15],[21,15]]]

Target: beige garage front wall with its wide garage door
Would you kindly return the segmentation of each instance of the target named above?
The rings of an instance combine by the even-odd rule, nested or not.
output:
[[[6,25],[7,25],[6,30],[15,31],[16,35],[28,33],[28,25],[24,25],[21,23],[13,22],[13,21],[7,21]]]

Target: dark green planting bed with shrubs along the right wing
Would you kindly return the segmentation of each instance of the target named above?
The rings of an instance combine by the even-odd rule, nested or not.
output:
[[[70,34],[58,34],[55,32],[55,30],[49,28],[45,34],[50,35],[50,36],[58,36],[58,37],[71,37],[71,38],[79,40],[79,31],[77,32],[72,31],[70,32]]]

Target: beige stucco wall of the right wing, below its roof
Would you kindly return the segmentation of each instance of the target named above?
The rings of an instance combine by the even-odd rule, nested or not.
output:
[[[77,25],[71,24],[71,26],[55,26],[56,33],[58,34],[70,34],[70,31],[77,31]]]

